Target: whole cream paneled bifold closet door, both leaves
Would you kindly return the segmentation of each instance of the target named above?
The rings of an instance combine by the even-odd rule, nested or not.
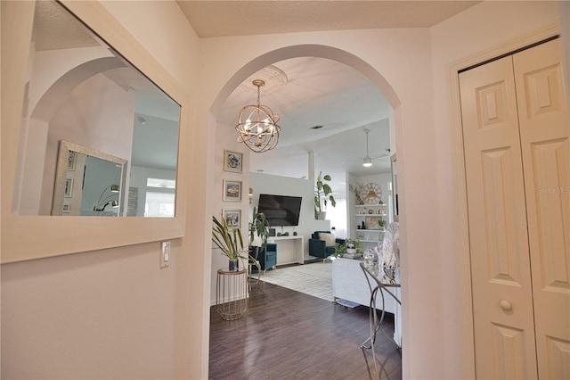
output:
[[[570,140],[558,39],[460,73],[476,376],[570,378]]]

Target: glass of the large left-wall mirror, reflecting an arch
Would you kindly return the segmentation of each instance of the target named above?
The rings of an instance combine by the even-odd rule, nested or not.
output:
[[[14,211],[174,217],[180,106],[56,2],[36,3],[26,87]],[[64,141],[83,153],[65,156]],[[109,176],[75,160],[85,155],[109,158],[97,167]],[[124,161],[119,180],[112,157]],[[113,185],[117,207],[98,211],[93,194]]]

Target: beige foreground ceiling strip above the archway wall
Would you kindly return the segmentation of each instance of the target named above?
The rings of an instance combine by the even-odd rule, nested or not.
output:
[[[428,28],[478,1],[184,1],[199,37],[342,29]]]

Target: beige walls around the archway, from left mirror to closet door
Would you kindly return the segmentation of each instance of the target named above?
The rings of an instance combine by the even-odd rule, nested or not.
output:
[[[180,173],[190,184],[187,237],[173,242],[167,269],[159,269],[158,243],[4,265],[3,377],[207,377],[209,229],[220,208],[222,170],[215,115],[250,74],[303,54],[362,70],[394,108],[403,199],[403,377],[472,377],[468,336],[459,334],[466,326],[460,297],[468,291],[460,287],[465,266],[457,251],[465,231],[456,227],[460,216],[450,202],[460,194],[448,67],[558,21],[554,5],[485,2],[431,30],[198,41],[175,3],[105,4],[189,94],[199,94],[192,96],[192,125],[201,127],[183,126],[191,128],[183,146],[191,164]]]

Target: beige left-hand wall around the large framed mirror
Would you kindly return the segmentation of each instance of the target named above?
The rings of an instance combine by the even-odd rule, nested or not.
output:
[[[193,95],[199,41],[177,4],[105,5]],[[181,142],[190,162],[182,178],[205,177],[193,154],[206,147],[193,141]],[[199,189],[189,193],[199,197]],[[188,214],[204,209],[203,201],[186,205]],[[191,248],[205,233],[189,219],[188,237],[172,241],[169,268],[159,268],[158,242],[3,265],[2,378],[206,378],[205,260]]]

